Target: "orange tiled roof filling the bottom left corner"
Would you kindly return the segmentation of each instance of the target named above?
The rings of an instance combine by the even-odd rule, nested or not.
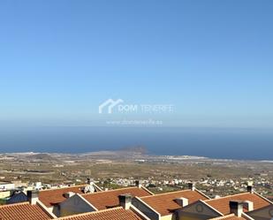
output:
[[[0,206],[1,220],[48,220],[50,217],[38,206],[28,202]]]

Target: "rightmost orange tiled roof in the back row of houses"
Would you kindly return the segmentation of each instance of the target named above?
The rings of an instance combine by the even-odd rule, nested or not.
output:
[[[206,203],[224,215],[228,215],[230,214],[230,201],[252,201],[254,202],[254,209],[261,209],[270,204],[269,201],[262,199],[262,197],[256,193],[240,193],[209,200],[206,201]]]

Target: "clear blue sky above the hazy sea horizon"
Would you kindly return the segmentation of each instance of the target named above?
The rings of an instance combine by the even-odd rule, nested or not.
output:
[[[273,126],[272,0],[2,0],[2,125],[95,125],[105,99],[165,125]],[[138,116],[138,118],[150,116]]]

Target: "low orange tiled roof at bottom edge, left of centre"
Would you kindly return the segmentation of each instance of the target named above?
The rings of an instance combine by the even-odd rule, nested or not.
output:
[[[102,211],[89,212],[76,216],[58,218],[62,220],[140,220],[141,218],[131,210],[122,208],[106,209]]]

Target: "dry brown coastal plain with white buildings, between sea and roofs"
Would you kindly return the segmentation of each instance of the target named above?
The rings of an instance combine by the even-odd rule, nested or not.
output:
[[[41,182],[43,188],[80,185],[92,178],[109,189],[140,180],[154,193],[183,189],[194,181],[212,197],[243,192],[247,183],[253,182],[257,192],[269,199],[273,195],[272,162],[151,156],[140,147],[86,154],[2,154],[0,178],[22,186]]]

